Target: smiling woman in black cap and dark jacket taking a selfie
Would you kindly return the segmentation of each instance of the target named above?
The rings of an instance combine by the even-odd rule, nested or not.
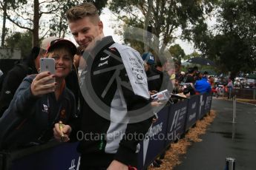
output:
[[[65,77],[71,71],[76,46],[62,38],[47,38],[42,45],[48,47],[45,56],[55,60],[55,74],[40,72],[24,78],[0,118],[0,149],[45,143],[53,137],[55,123],[75,119],[75,98],[65,86]]]

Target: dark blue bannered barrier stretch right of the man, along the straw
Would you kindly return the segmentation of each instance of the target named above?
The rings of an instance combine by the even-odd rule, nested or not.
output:
[[[194,95],[158,112],[159,119],[148,130],[149,137],[140,143],[139,169],[146,169],[170,143],[202,119],[211,109],[211,94]]]

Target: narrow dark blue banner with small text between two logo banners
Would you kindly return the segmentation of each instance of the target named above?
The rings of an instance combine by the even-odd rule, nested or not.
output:
[[[199,108],[198,98],[200,95],[193,95],[188,99],[188,113],[186,118],[186,131],[197,122],[197,109]]]

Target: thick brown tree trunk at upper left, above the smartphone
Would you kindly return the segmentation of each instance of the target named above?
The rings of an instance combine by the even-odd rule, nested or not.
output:
[[[39,47],[39,0],[34,0],[32,47]]]

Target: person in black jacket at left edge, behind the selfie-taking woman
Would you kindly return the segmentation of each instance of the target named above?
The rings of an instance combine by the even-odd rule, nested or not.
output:
[[[40,51],[39,47],[33,47],[30,55],[22,61],[20,64],[16,64],[13,69],[7,72],[4,77],[4,81],[0,94],[0,118],[4,114],[4,111],[10,105],[10,101],[13,99],[13,95],[22,83],[23,78],[27,75],[38,73],[39,70],[39,58],[45,54],[44,50]]]

